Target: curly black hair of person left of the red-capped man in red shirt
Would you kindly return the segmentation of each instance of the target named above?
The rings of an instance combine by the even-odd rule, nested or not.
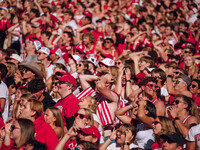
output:
[[[43,79],[35,78],[28,83],[28,90],[31,93],[37,93],[43,89],[45,89],[45,83]]]

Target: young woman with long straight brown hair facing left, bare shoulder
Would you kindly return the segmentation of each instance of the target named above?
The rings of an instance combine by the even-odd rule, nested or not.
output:
[[[61,111],[56,107],[47,108],[44,112],[44,120],[55,131],[58,139],[61,140],[64,135]]]

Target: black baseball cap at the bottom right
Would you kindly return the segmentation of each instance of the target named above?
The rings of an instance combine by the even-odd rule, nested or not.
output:
[[[162,134],[160,136],[161,139],[168,139],[174,143],[178,143],[178,145],[183,145],[185,144],[185,140],[184,138],[178,134],[178,133],[175,133],[175,132],[169,132],[168,134]]]

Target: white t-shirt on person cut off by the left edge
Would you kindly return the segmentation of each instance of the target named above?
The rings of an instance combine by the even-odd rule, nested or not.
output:
[[[3,117],[3,121],[6,122],[8,119],[8,95],[9,95],[9,91],[8,91],[8,87],[7,85],[1,81],[0,84],[0,98],[5,98],[6,102],[5,102],[5,106],[4,106],[4,111],[2,113],[2,117]]]

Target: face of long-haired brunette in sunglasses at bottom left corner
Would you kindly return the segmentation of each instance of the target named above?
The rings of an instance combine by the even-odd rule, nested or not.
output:
[[[20,139],[21,137],[21,128],[17,121],[14,121],[10,128],[10,138],[14,141]]]

